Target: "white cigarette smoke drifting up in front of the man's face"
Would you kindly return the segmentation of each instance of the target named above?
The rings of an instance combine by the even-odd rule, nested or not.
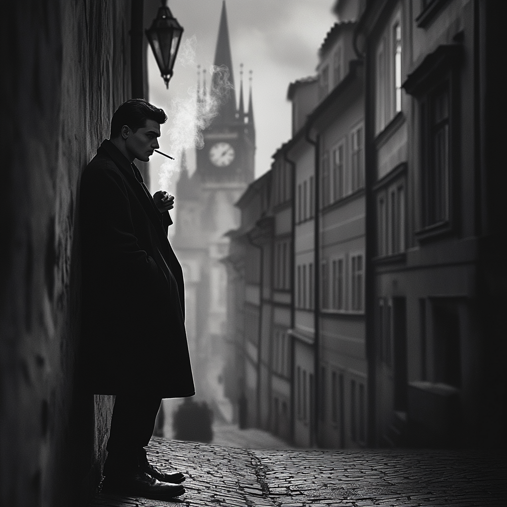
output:
[[[195,47],[192,44],[184,45],[188,49],[186,56],[188,62],[194,61]],[[171,101],[172,125],[167,132],[171,144],[170,153],[180,154],[191,148],[202,149],[203,130],[209,127],[213,118],[219,114],[220,106],[227,100],[229,93],[232,93],[229,69],[225,65],[220,67],[212,65],[209,73],[211,87],[207,95],[197,97],[197,88],[192,87],[187,90],[186,96],[175,97]],[[179,172],[178,164],[164,162],[159,172],[160,188],[170,187],[172,176],[177,172]]]

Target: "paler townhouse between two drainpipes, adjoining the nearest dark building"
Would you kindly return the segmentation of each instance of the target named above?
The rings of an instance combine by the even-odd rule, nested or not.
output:
[[[334,448],[366,444],[364,72],[355,26],[336,23],[324,39],[320,103],[308,119],[319,145],[316,434]]]

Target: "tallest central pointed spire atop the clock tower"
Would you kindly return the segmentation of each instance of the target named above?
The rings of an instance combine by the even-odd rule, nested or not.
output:
[[[225,0],[222,3],[222,14],[220,16],[219,34],[216,40],[215,59],[213,64],[215,67],[227,67],[229,71],[228,81],[232,85],[232,89],[227,87],[228,89],[225,90],[226,96],[220,97],[222,104],[220,106],[220,113],[217,116],[217,119],[220,118],[220,121],[225,123],[234,122],[236,119],[236,97],[234,94],[234,75]],[[222,79],[221,73],[214,72],[211,83],[211,89],[213,92],[223,93],[222,89],[224,87],[221,86],[219,82],[220,79]]]

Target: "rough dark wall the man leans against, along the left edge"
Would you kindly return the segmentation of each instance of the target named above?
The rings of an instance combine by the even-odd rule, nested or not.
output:
[[[130,2],[3,3],[0,504],[96,487],[111,397],[77,382],[80,174],[130,93]]]

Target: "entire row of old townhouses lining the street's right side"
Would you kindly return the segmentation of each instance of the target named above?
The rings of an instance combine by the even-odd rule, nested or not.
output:
[[[504,10],[335,3],[236,250],[249,424],[303,447],[504,447]]]

